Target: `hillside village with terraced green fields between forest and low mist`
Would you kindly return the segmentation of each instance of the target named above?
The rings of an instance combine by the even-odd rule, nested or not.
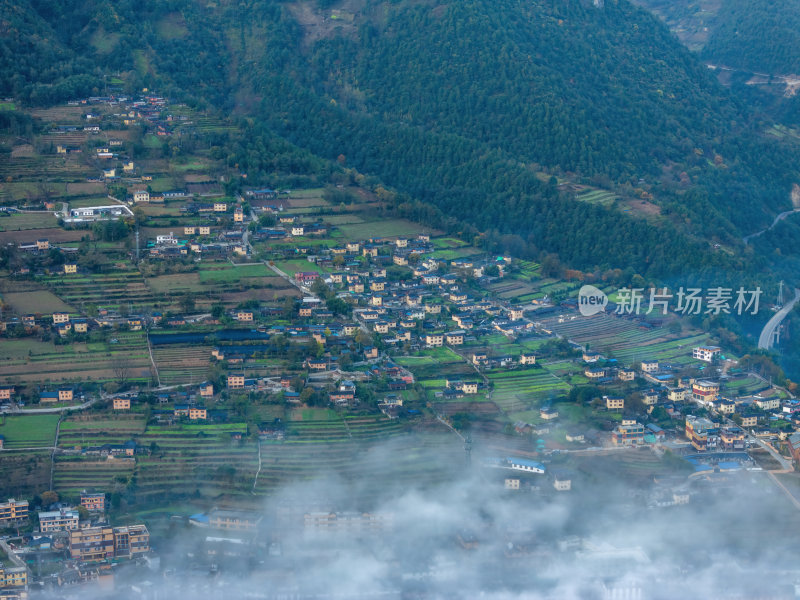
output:
[[[103,581],[126,561],[157,569],[150,536],[172,518],[219,534],[202,536],[204,561],[235,557],[235,540],[263,541],[254,498],[328,469],[376,473],[358,457],[384,441],[413,450],[399,482],[457,464],[498,493],[568,494],[596,454],[646,481],[642,506],[761,470],[800,505],[800,401],[764,357],[674,312],[612,301],[583,316],[581,285],[613,299],[614,281],[408,220],[357,173],[273,189],[213,148],[171,160],[227,125],[157,94],[45,116],[3,168],[0,597]],[[34,157],[38,190],[20,170]],[[296,512],[310,530],[391,526]]]

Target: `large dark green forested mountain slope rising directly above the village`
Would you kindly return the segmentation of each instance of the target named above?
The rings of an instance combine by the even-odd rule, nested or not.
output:
[[[2,95],[155,88],[242,125],[214,152],[249,182],[343,164],[408,216],[581,269],[753,272],[774,253],[741,237],[798,180],[791,142],[625,0],[2,0],[0,17]],[[576,202],[564,180],[659,216]]]

